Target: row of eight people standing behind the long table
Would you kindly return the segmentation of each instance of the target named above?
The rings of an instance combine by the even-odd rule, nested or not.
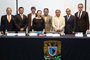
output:
[[[83,4],[78,4],[78,12],[75,15],[71,14],[69,8],[66,9],[66,16],[61,16],[61,11],[56,10],[55,16],[52,17],[49,14],[49,9],[44,9],[44,15],[42,11],[36,12],[35,7],[31,7],[31,13],[28,16],[24,15],[24,8],[19,8],[19,14],[12,15],[12,9],[7,8],[7,14],[1,17],[1,33],[7,31],[25,31],[28,27],[28,31],[35,31],[38,34],[44,34],[45,32],[59,32],[65,34],[74,34],[75,32],[89,32],[89,16],[86,11],[83,11]]]

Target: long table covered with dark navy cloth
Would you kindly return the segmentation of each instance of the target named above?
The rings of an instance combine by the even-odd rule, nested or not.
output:
[[[90,38],[0,36],[0,60],[45,60],[44,41],[61,41],[61,60],[90,60]]]

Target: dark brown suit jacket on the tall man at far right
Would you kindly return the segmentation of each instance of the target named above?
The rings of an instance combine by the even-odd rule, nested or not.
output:
[[[78,17],[78,12],[75,13],[76,16],[76,31],[82,31],[85,32],[87,29],[89,29],[89,17],[88,13],[83,11],[81,18]]]

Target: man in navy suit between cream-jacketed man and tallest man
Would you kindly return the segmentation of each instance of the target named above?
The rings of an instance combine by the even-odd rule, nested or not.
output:
[[[74,34],[76,28],[76,18],[75,16],[71,15],[71,10],[68,8],[66,9],[66,16],[65,17],[65,34]]]

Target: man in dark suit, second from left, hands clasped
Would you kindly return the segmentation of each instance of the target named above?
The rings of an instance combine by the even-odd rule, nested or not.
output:
[[[20,7],[19,8],[19,14],[15,16],[14,24],[16,26],[16,31],[25,31],[26,27],[28,25],[28,19],[27,17],[23,14],[24,8]]]

